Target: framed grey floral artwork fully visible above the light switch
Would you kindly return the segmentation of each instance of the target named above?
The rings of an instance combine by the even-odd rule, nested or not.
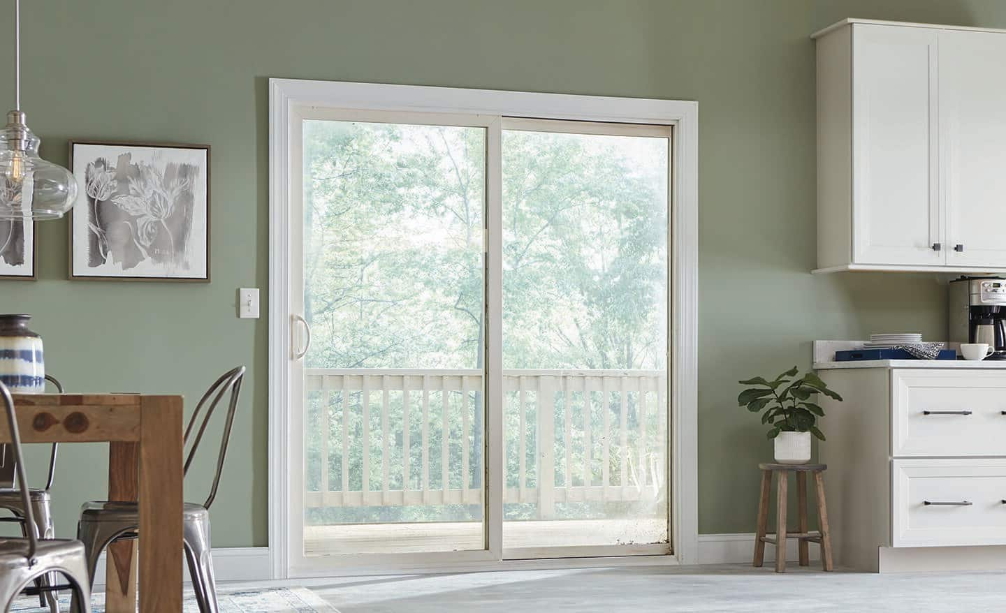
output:
[[[209,281],[209,146],[70,141],[72,279]]]

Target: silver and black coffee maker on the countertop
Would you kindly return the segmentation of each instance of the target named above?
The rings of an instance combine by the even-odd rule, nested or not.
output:
[[[989,360],[1006,360],[1006,278],[962,276],[950,282],[951,343],[986,343]]]

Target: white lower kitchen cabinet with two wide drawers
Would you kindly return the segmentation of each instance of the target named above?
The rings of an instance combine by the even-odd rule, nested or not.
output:
[[[1006,569],[1006,368],[818,373],[836,564]]]

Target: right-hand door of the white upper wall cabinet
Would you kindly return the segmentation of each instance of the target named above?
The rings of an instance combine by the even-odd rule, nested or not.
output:
[[[1006,34],[940,34],[947,262],[1006,266]]]

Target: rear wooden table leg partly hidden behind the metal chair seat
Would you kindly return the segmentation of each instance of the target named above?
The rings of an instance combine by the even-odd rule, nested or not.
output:
[[[137,443],[110,443],[110,500],[135,501],[138,498],[139,454]],[[110,545],[106,565],[106,610],[108,613],[136,613],[136,541]]]

